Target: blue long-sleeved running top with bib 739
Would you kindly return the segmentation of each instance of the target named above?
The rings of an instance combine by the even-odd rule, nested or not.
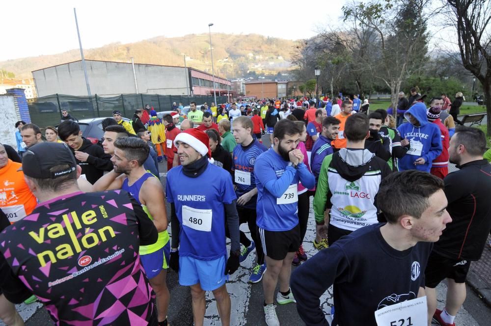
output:
[[[310,189],[315,185],[315,178],[305,164],[300,163],[297,168],[290,165],[273,149],[264,152],[256,160],[256,224],[262,229],[288,231],[299,223],[298,200],[293,201],[292,195],[298,196],[300,180],[305,188]],[[286,203],[279,204],[278,200]]]

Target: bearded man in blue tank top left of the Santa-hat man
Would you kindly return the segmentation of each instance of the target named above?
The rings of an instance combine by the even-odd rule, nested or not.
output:
[[[143,167],[150,151],[147,143],[137,137],[116,138],[114,155],[111,162],[114,170],[99,179],[94,191],[117,190],[128,191],[148,218],[153,220],[159,238],[153,245],[140,246],[141,263],[145,269],[150,285],[157,299],[159,326],[167,325],[169,290],[165,283],[169,264],[170,242],[167,233],[167,214],[165,209],[164,189],[160,180]]]

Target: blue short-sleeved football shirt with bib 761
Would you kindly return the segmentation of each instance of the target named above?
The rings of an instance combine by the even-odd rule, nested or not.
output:
[[[267,148],[257,140],[253,140],[246,147],[242,145],[235,146],[233,152],[234,166],[232,170],[235,171],[234,184],[236,185],[235,193],[237,194],[237,198],[256,188],[254,164],[256,163],[257,157],[266,151]],[[243,207],[255,209],[256,201],[257,195],[254,195]]]

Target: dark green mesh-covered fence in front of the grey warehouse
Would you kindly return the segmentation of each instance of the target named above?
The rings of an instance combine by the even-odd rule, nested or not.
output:
[[[198,105],[215,102],[213,96],[180,96],[159,94],[121,94],[118,96],[73,96],[54,94],[27,100],[31,122],[41,128],[60,123],[61,110],[67,110],[77,119],[109,117],[113,110],[120,110],[124,117],[131,119],[136,109],[145,105],[157,112],[172,109],[172,103],[187,106],[190,102]],[[217,96],[218,104],[226,103],[226,96]]]

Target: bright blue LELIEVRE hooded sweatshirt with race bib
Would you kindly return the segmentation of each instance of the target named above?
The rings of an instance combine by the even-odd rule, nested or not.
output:
[[[419,127],[414,126],[410,122],[403,123],[397,128],[402,139],[408,139],[408,153],[399,159],[399,170],[420,170],[430,173],[432,162],[441,154],[441,134],[440,129],[434,123],[428,122],[426,116],[426,106],[423,103],[414,104],[404,114],[404,117],[409,120],[411,114],[419,121]],[[415,165],[414,161],[419,158],[425,159],[424,164]]]

